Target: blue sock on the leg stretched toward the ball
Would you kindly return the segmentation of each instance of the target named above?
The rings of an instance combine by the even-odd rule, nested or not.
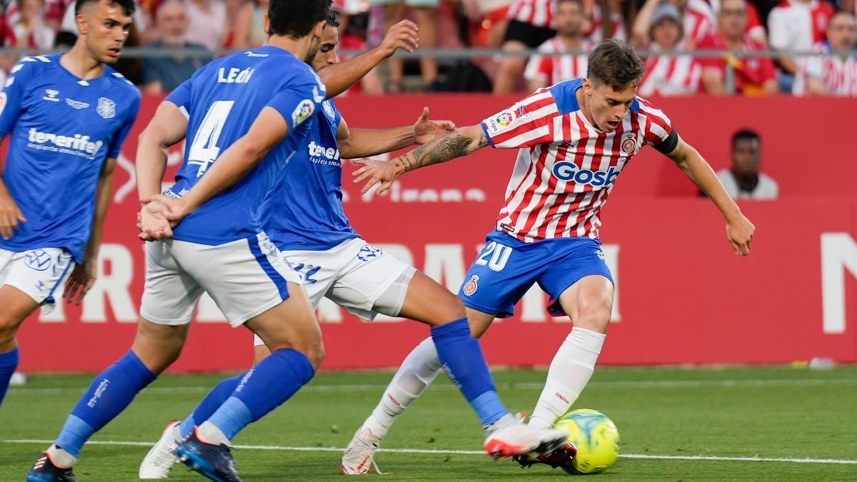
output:
[[[482,425],[493,424],[509,413],[497,395],[479,340],[470,336],[467,318],[431,328],[431,337],[443,369],[476,410]]]

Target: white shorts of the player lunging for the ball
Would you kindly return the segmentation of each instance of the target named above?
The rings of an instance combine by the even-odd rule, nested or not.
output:
[[[417,268],[388,255],[360,238],[348,239],[326,251],[282,251],[301,276],[313,308],[328,298],[356,316],[372,321],[378,314],[399,316],[406,289],[380,300],[394,283],[411,282]],[[264,345],[256,336],[254,346]]]

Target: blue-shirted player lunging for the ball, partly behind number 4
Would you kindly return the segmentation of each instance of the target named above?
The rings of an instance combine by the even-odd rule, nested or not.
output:
[[[336,18],[331,17],[313,62],[316,70],[323,71],[336,63],[338,33],[331,28],[336,25]],[[343,66],[345,64],[347,62]],[[360,75],[353,75],[351,81],[359,78]],[[282,250],[287,262],[302,275],[312,304],[316,306],[321,298],[327,297],[367,320],[382,313],[409,317],[435,327],[432,338],[442,346],[435,351],[434,344],[427,342],[423,347],[434,352],[434,356],[440,355],[441,363],[449,366],[452,377],[461,384],[464,395],[473,403],[489,432],[485,443],[489,451],[511,450],[500,455],[513,455],[512,452],[546,450],[563,442],[565,432],[527,427],[502,407],[479,346],[470,338],[461,301],[411,265],[363,241],[345,217],[342,159],[428,142],[454,126],[430,122],[428,111],[423,111],[412,126],[350,130],[333,99],[327,100],[322,112],[307,124],[311,132],[304,140],[302,151],[286,166],[283,182],[267,196],[260,216],[265,232]],[[265,345],[256,337],[257,362],[269,354]],[[460,353],[454,353],[456,351]],[[434,368],[439,370],[440,363]],[[465,368],[471,372],[462,372]],[[419,374],[412,377],[413,383],[423,383]],[[141,463],[141,479],[168,477],[176,463],[177,445],[192,434],[195,425],[211,417],[242,378],[239,375],[219,383],[188,418],[167,425],[158,443]],[[369,432],[358,432],[354,439],[357,442],[352,443],[374,443]],[[343,473],[367,473],[371,462],[370,458],[345,460],[341,470]]]

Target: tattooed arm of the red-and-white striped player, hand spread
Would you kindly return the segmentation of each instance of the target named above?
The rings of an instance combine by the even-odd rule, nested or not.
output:
[[[352,174],[354,184],[360,184],[365,180],[366,184],[361,190],[364,194],[369,192],[375,184],[380,184],[375,192],[381,194],[390,189],[393,180],[405,172],[473,154],[485,146],[488,146],[488,138],[481,124],[463,127],[425,143],[394,160],[355,160],[356,164],[361,164],[363,167]]]

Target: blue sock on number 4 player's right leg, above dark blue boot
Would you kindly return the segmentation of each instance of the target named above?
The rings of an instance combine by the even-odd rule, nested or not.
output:
[[[315,375],[302,352],[284,348],[248,371],[227,401],[208,419],[229,438],[295,395]]]

